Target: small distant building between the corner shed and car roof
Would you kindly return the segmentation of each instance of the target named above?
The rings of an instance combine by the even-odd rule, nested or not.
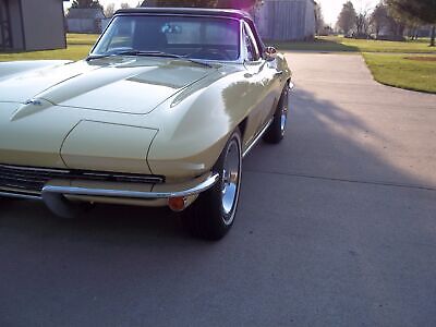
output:
[[[101,33],[101,22],[106,20],[101,9],[72,8],[66,15],[66,25],[70,33]]]

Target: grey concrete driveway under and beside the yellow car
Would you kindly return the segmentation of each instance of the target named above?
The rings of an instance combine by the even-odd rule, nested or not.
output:
[[[290,53],[289,133],[244,162],[220,243],[167,210],[3,204],[1,326],[435,326],[436,96]]]

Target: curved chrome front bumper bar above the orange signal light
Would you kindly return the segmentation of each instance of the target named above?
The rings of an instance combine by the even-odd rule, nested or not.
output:
[[[43,198],[48,194],[63,194],[63,195],[82,195],[82,196],[104,196],[104,197],[124,197],[124,198],[170,198],[170,197],[184,197],[195,195],[207,191],[218,181],[219,174],[211,174],[204,182],[198,185],[178,192],[141,192],[141,191],[124,191],[124,190],[110,190],[110,189],[88,189],[76,186],[53,186],[46,185],[43,187]]]

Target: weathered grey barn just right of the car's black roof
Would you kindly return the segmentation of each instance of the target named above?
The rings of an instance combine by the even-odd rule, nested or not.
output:
[[[315,36],[313,0],[264,0],[253,15],[264,39],[310,40]]]

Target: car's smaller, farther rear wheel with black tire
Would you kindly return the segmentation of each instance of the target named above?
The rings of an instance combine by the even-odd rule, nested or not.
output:
[[[280,100],[277,105],[276,112],[274,114],[272,123],[264,135],[264,141],[270,144],[278,144],[283,140],[289,111],[289,86],[284,86]],[[284,121],[283,121],[284,119]]]

